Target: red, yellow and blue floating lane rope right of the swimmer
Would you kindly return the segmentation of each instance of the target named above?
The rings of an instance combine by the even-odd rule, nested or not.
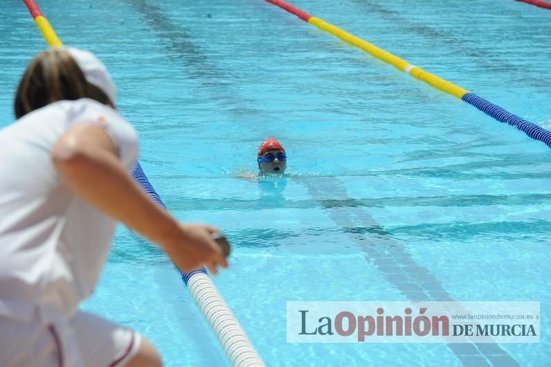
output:
[[[510,113],[509,111],[503,109],[502,107],[499,107],[498,105],[494,105],[488,100],[485,100],[484,98],[481,98],[476,94],[471,93],[467,89],[463,89],[462,87],[459,87],[458,85],[455,85],[447,80],[444,80],[433,73],[429,73],[428,71],[425,71],[419,66],[410,64],[406,60],[403,60],[400,57],[397,57],[396,55],[392,55],[392,53],[384,51],[382,48],[379,48],[374,44],[370,44],[369,42],[364,41],[363,39],[356,37],[355,35],[347,33],[345,30],[342,30],[341,28],[338,28],[332,24],[329,24],[323,19],[316,18],[312,15],[309,15],[304,10],[300,10],[299,8],[296,8],[296,6],[293,6],[290,3],[287,3],[286,1],[282,1],[282,0],[266,0],[266,1],[269,3],[272,3],[273,5],[279,6],[284,10],[287,10],[287,12],[290,12],[291,14],[296,15],[300,19],[307,21],[307,23],[312,24],[320,28],[321,30],[325,30],[325,32],[327,33],[331,33],[332,35],[335,35],[336,37],[342,39],[344,42],[347,42],[348,44],[351,44],[352,46],[361,48],[366,53],[369,53],[373,57],[377,57],[379,60],[382,60],[388,64],[391,64],[392,66],[395,66],[400,71],[403,71],[404,73],[408,73],[409,75],[413,76],[417,80],[426,82],[427,84],[431,85],[432,87],[435,87],[436,89],[440,89],[445,93],[449,93],[452,96],[455,96],[457,98],[460,98],[461,100],[464,100],[465,102],[469,103],[469,105],[473,105],[474,107],[484,112],[488,116],[491,116],[492,118],[498,120],[500,123],[507,123],[508,125],[512,125],[517,129],[521,130],[522,132],[524,132],[527,136],[530,136],[530,138],[541,141],[546,145],[548,145],[548,147],[551,147],[551,132],[546,129],[543,129],[539,125],[536,125],[534,123],[531,123],[530,121],[524,120],[523,118]]]

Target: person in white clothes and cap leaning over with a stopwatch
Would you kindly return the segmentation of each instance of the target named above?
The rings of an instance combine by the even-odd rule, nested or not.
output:
[[[177,222],[134,182],[138,137],[114,108],[109,73],[87,51],[45,51],[19,83],[17,121],[0,130],[2,367],[162,365],[134,330],[78,310],[117,222],[182,271],[228,266],[217,229]]]

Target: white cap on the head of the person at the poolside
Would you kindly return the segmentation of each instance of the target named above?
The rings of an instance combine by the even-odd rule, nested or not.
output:
[[[101,62],[98,57],[94,56],[89,51],[80,50],[78,48],[68,47],[65,48],[69,55],[73,57],[75,62],[84,73],[84,78],[88,80],[90,84],[94,84],[107,94],[107,97],[115,104],[115,84],[111,80],[111,75],[107,71],[107,68]]]

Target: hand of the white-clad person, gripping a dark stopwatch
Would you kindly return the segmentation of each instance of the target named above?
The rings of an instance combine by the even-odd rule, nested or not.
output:
[[[222,249],[210,235],[219,229],[206,224],[180,224],[181,233],[172,240],[165,251],[174,264],[184,272],[207,267],[210,274],[217,274],[217,267],[228,267]]]

